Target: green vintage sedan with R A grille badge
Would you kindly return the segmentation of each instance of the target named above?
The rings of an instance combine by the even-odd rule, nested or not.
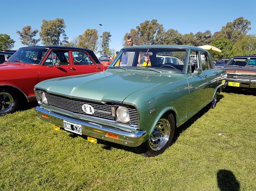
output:
[[[190,64],[191,54],[196,64]],[[158,62],[165,56],[180,61]],[[36,84],[35,110],[55,128],[86,135],[91,142],[101,139],[156,156],[170,145],[177,127],[203,107],[215,107],[226,77],[198,47],[130,46],[104,72]]]

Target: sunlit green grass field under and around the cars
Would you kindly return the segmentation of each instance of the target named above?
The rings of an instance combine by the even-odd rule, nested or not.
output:
[[[0,190],[256,190],[256,96],[219,99],[150,158],[56,131],[33,108],[0,117]]]

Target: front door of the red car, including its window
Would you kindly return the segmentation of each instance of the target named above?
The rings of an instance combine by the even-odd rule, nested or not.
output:
[[[38,69],[39,81],[62,77],[68,75],[76,75],[76,66],[70,61],[71,51],[64,49],[53,49],[45,56]]]

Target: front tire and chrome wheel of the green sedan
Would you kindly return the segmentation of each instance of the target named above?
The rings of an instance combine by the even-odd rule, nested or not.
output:
[[[175,130],[175,120],[172,114],[162,116],[148,140],[135,147],[136,153],[145,157],[157,156],[163,153],[172,142]]]

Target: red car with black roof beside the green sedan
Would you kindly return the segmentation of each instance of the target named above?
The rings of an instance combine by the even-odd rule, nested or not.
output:
[[[104,71],[92,50],[59,47],[23,47],[0,64],[0,116],[35,101],[34,85],[60,76]]]

